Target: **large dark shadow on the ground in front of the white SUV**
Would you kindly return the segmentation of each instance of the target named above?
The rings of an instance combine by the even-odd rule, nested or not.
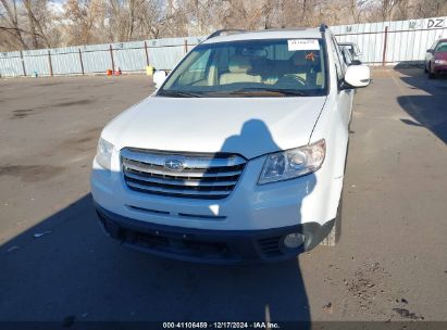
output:
[[[97,223],[85,195],[1,246],[0,320],[309,319],[297,261],[160,259],[120,246]]]

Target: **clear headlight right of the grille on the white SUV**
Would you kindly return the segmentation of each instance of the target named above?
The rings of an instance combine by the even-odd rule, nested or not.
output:
[[[268,155],[258,185],[298,178],[318,170],[326,154],[326,143],[315,143]]]

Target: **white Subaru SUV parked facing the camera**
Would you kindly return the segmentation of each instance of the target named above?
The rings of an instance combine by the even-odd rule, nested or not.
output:
[[[370,69],[346,67],[326,26],[213,34],[154,80],[99,140],[91,192],[110,237],[206,263],[336,242],[352,88]]]

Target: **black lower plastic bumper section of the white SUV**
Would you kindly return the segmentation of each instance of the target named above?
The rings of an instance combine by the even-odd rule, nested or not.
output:
[[[96,210],[105,232],[125,246],[158,256],[209,264],[268,263],[293,258],[320,243],[334,225],[331,220],[323,226],[306,223],[261,230],[210,230],[141,221],[112,213],[98,204]],[[306,236],[302,246],[284,246],[284,236],[291,232]]]

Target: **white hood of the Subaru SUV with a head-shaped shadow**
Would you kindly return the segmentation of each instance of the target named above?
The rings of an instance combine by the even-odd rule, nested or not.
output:
[[[102,137],[124,147],[229,152],[252,158],[309,142],[326,97],[149,97],[112,120]]]

